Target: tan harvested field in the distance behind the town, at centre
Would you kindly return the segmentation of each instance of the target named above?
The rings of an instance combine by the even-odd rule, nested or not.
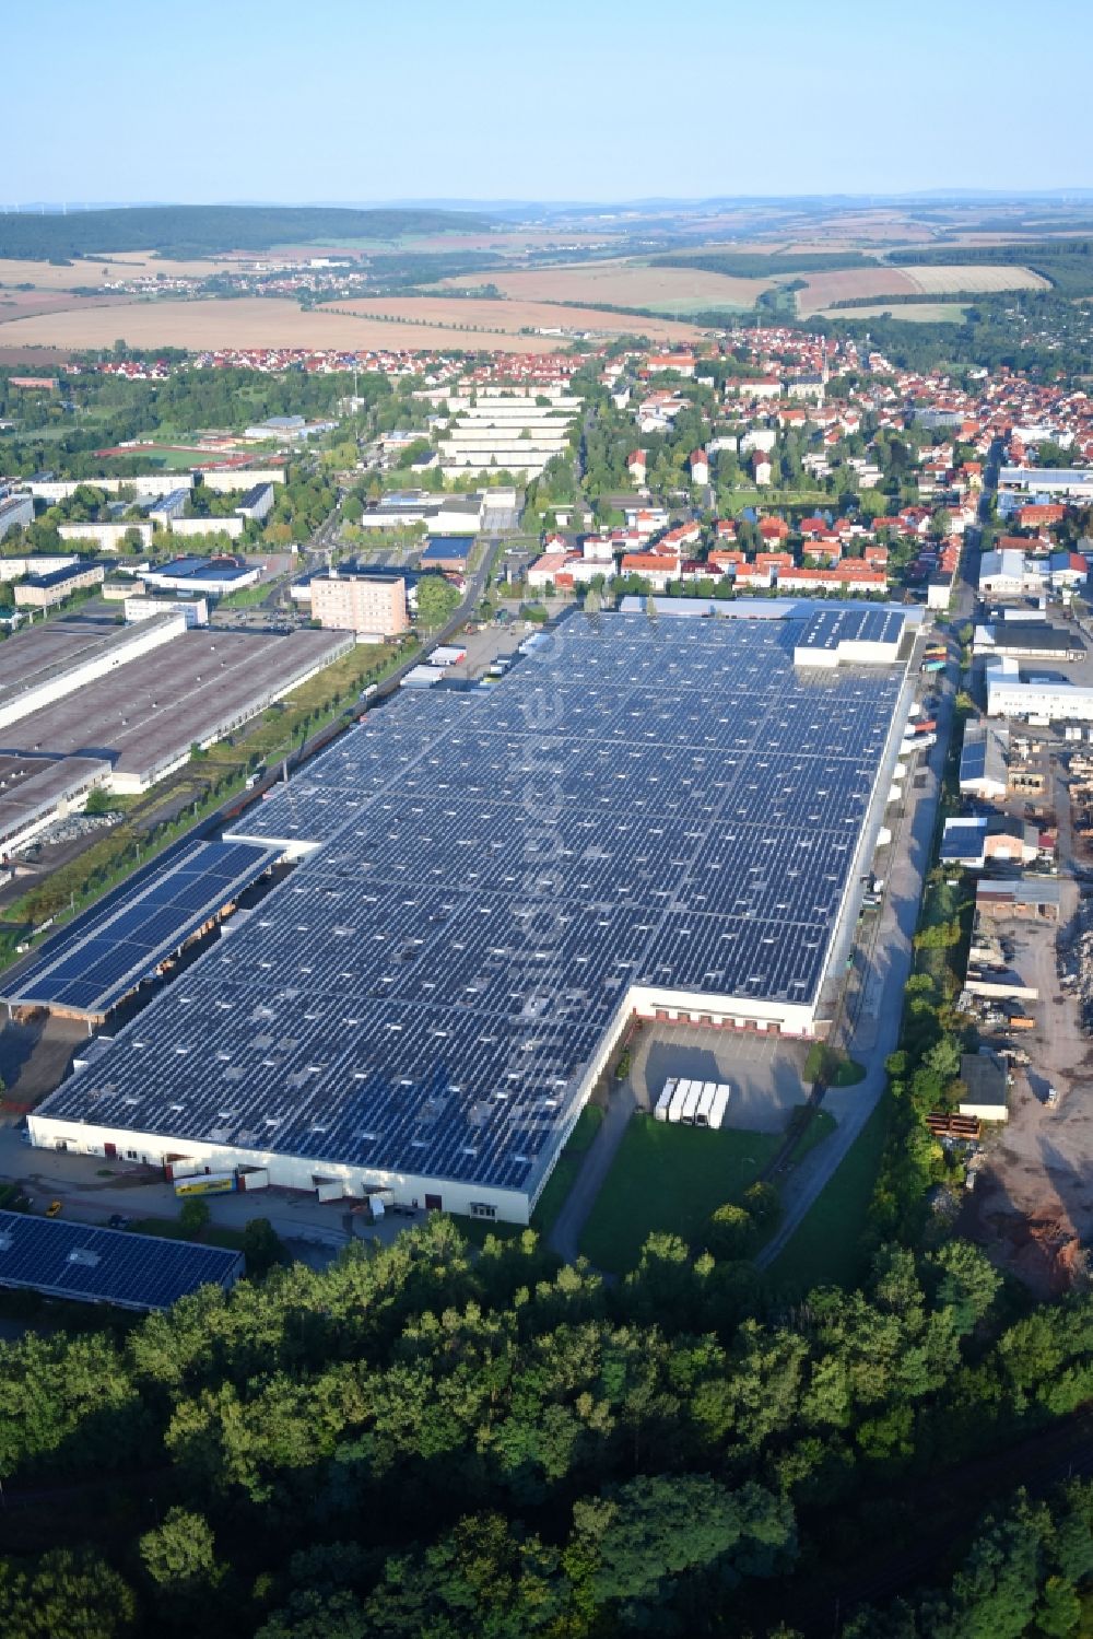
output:
[[[769,290],[770,279],[731,279],[698,267],[642,267],[634,262],[583,262],[580,266],[534,267],[511,274],[470,274],[446,279],[449,287],[497,285],[518,302],[583,302],[595,306],[655,308],[688,313],[703,308],[751,308]],[[556,321],[557,323],[557,321]]]

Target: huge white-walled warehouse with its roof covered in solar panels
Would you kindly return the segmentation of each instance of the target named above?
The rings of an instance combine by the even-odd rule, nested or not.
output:
[[[234,824],[297,869],[33,1142],[526,1223],[633,1015],[824,1028],[909,649],[877,608],[575,616],[400,692]]]

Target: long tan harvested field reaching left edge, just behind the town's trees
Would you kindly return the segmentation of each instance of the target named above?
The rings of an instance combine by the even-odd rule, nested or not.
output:
[[[392,303],[387,303],[388,306]],[[398,303],[395,303],[398,305]],[[405,305],[405,303],[403,303]],[[454,303],[452,303],[454,305]],[[465,306],[467,303],[460,303]],[[506,306],[508,303],[495,303]],[[557,308],[549,310],[557,323]],[[596,315],[598,320],[603,315]],[[467,316],[467,323],[470,318]],[[698,334],[685,325],[647,321],[657,334]],[[116,338],[131,347],[341,347],[415,352],[424,347],[498,352],[556,352],[569,346],[562,336],[518,336],[497,331],[460,331],[452,325],[405,325],[354,318],[316,308],[303,313],[295,302],[244,297],[239,302],[131,302],[123,306],[80,306],[67,313],[43,313],[0,323],[0,349],[56,346],[67,349],[110,347]],[[43,361],[44,362],[44,361]]]

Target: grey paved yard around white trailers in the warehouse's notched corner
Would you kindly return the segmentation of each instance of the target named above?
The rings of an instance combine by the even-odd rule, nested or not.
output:
[[[698,1024],[646,1024],[634,1042],[629,1082],[641,1110],[652,1110],[670,1075],[731,1082],[728,1124],[782,1133],[790,1111],[808,1096],[803,1042]]]

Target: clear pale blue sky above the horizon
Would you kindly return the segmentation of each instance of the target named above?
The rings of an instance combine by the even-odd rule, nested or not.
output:
[[[1090,187],[1091,51],[1088,0],[10,0],[0,203]]]

